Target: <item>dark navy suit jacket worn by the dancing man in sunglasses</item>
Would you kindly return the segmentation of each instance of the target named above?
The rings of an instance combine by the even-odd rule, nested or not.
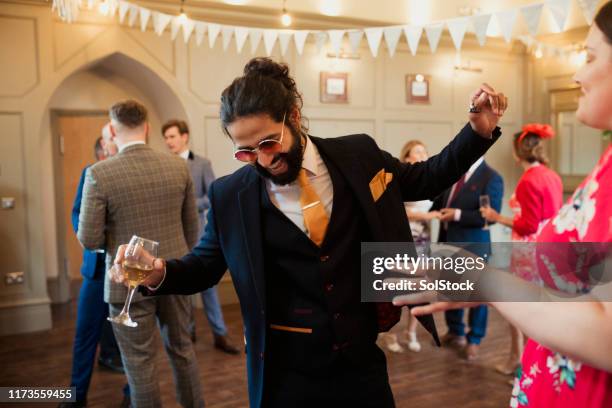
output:
[[[433,200],[457,181],[500,135],[496,129],[492,139],[484,139],[466,125],[440,154],[413,165],[380,150],[367,135],[310,137],[310,140],[345,177],[364,214],[363,222],[372,241],[411,242],[404,201]],[[375,201],[369,183],[383,169],[392,173],[393,179]],[[261,183],[252,166],[244,166],[213,182],[208,193],[211,207],[200,243],[183,258],[167,262],[165,279],[156,292],[140,289],[148,295],[193,294],[216,285],[229,268],[244,322],[249,401],[257,408],[263,395],[266,343]],[[359,281],[360,271],[355,271],[354,276]],[[432,316],[424,317],[421,323],[436,336]]]

